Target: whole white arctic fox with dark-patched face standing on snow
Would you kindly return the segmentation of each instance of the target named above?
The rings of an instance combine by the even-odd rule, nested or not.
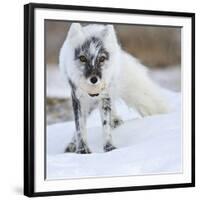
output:
[[[142,116],[168,112],[160,88],[147,69],[121,49],[112,25],[72,23],[60,51],[60,69],[71,86],[76,131],[66,152],[91,153],[86,119],[99,107],[105,152],[115,149],[112,128],[122,123],[114,101],[122,98]]]

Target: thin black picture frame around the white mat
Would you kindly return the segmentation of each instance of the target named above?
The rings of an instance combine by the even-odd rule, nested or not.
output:
[[[84,190],[66,190],[66,191],[49,191],[35,192],[35,174],[34,174],[34,11],[36,8],[43,9],[59,9],[59,10],[80,10],[80,11],[97,11],[108,13],[129,13],[129,14],[148,14],[148,15],[163,15],[163,16],[180,16],[189,17],[192,20],[192,163],[191,163],[191,183],[167,184],[167,185],[144,185],[131,187],[116,187],[116,188],[99,188],[99,189],[84,189]],[[120,192],[133,190],[149,190],[163,188],[182,188],[195,186],[195,14],[186,12],[167,12],[167,11],[150,11],[150,10],[135,10],[121,8],[105,8],[105,7],[86,7],[73,5],[57,5],[57,4],[36,4],[30,3],[24,5],[24,195],[28,197],[36,196],[52,196],[52,195],[72,195],[84,193],[99,193],[99,192]]]

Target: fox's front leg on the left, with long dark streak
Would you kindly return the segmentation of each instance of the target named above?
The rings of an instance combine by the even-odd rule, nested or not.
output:
[[[91,153],[87,146],[86,138],[86,112],[83,109],[83,105],[81,105],[81,101],[76,97],[75,92],[72,92],[72,105],[76,131],[72,141],[67,146],[66,151],[80,154]]]

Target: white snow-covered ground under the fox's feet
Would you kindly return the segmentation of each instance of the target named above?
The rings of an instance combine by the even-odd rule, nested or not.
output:
[[[63,153],[74,132],[74,122],[47,127],[47,179],[126,176],[182,171],[181,97],[165,91],[173,111],[141,118],[119,100],[118,112],[125,123],[113,130],[116,150],[103,153],[98,111],[88,121],[92,154]]]

